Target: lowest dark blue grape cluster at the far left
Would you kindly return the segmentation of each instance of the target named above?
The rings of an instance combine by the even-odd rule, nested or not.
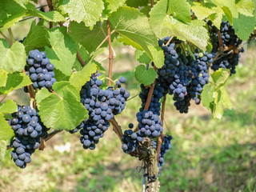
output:
[[[14,150],[11,156],[16,166],[26,167],[26,163],[31,162],[31,154],[40,146],[41,138],[47,137],[46,126],[43,126],[37,110],[32,110],[30,106],[18,106],[18,112],[12,114],[9,121],[14,130],[15,139],[11,142]]]

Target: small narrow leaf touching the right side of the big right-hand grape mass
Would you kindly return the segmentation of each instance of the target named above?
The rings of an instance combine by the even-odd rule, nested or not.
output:
[[[202,105],[211,111],[214,110],[214,91],[214,85],[207,84],[203,87],[201,94]]]

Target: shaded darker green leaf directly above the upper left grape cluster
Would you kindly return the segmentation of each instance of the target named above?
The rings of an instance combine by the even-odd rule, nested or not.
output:
[[[36,26],[35,21],[32,22],[30,32],[27,34],[23,45],[25,46],[26,53],[30,50],[50,46],[46,41],[46,30],[42,26]]]

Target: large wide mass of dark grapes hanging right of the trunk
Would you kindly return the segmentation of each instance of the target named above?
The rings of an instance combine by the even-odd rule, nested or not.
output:
[[[159,46],[165,54],[165,62],[158,70],[158,82],[164,88],[164,94],[173,94],[174,106],[180,113],[187,113],[190,100],[200,103],[202,88],[209,82],[208,63],[213,62],[214,54],[200,53],[195,50],[195,60],[182,54],[177,44],[164,46],[169,38],[159,40]]]

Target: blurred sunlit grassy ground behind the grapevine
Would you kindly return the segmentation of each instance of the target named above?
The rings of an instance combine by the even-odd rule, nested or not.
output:
[[[30,22],[13,27],[16,40],[26,37]],[[173,147],[165,157],[160,191],[256,191],[256,42],[245,43],[244,48],[237,74],[226,83],[233,110],[225,110],[222,120],[194,102],[188,114],[179,114],[172,97],[167,97],[164,132],[173,136]],[[114,79],[125,76],[133,97],[140,90],[133,73],[139,65],[134,49],[114,42],[114,52]],[[106,70],[107,56],[106,49],[96,59]],[[8,98],[19,105],[28,105],[30,99],[22,90]],[[126,103],[116,118],[122,130],[130,122],[136,124],[140,104],[138,97]],[[24,170],[6,154],[0,167],[0,191],[142,191],[141,166],[138,159],[122,152],[111,126],[95,150],[83,150],[79,133],[62,131],[46,142],[45,150],[33,154]]]

